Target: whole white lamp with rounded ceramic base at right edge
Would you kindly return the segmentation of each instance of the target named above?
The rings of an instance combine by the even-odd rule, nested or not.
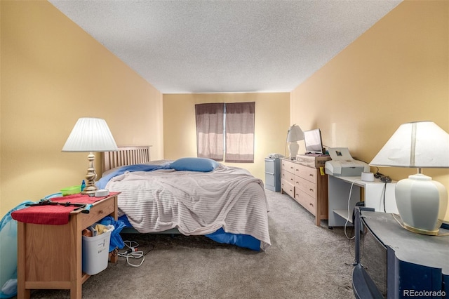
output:
[[[402,124],[382,147],[371,166],[417,168],[396,184],[396,206],[407,230],[436,235],[443,222],[448,192],[422,173],[422,168],[449,168],[449,134],[433,121]]]

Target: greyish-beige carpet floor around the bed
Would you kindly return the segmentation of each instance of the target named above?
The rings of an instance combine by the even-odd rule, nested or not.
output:
[[[266,190],[267,251],[218,244],[202,236],[123,234],[145,253],[126,258],[83,284],[83,298],[354,298],[354,240],[330,230],[291,197]],[[353,235],[352,227],[347,229]],[[138,265],[140,260],[130,259]],[[33,290],[32,298],[69,298],[67,290]]]

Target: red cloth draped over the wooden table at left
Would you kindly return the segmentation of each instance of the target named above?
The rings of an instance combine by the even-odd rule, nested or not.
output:
[[[114,195],[117,192],[110,192],[108,196]],[[107,197],[108,197],[107,196]],[[50,199],[53,202],[72,204],[93,204],[96,201],[105,199],[106,197],[90,197],[87,194],[73,194],[67,197],[53,197]],[[41,225],[65,225],[69,223],[70,212],[77,208],[83,208],[79,206],[61,206],[61,205],[48,205],[48,206],[29,206],[28,208],[22,208],[18,211],[13,211],[11,217],[14,220],[34,223]]]

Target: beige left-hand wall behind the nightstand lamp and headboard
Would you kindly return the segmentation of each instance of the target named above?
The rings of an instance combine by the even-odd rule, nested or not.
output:
[[[81,183],[87,153],[61,152],[79,117],[103,118],[118,145],[163,157],[159,91],[47,1],[0,9],[1,215]]]

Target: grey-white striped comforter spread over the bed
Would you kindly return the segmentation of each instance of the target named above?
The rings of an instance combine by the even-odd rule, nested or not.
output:
[[[185,235],[225,232],[249,234],[270,245],[268,203],[263,182],[242,168],[220,164],[215,171],[127,172],[107,183],[119,194],[119,216],[138,232],[173,227]]]

